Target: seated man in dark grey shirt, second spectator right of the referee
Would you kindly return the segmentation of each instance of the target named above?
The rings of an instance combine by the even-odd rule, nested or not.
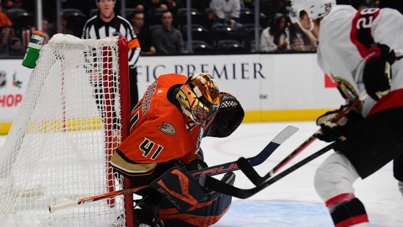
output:
[[[163,12],[161,22],[162,27],[156,28],[151,35],[156,53],[184,53],[185,43],[182,34],[172,27],[172,13],[169,11]]]

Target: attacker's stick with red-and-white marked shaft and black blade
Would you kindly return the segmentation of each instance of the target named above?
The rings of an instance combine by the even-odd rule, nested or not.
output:
[[[360,94],[359,97],[355,98],[351,102],[346,104],[346,109],[341,110],[338,114],[334,117],[332,122],[338,122],[342,117],[344,117],[348,112],[350,112],[353,108],[355,108],[361,101],[365,100],[368,97],[367,93],[364,91]],[[248,163],[248,160],[244,157],[240,157],[238,159],[238,167],[239,169],[245,173],[245,175],[252,181],[252,183],[256,186],[262,184],[264,181],[272,177],[275,173],[277,173],[282,167],[287,165],[294,157],[296,157],[302,150],[308,147],[309,144],[316,140],[316,134],[320,132],[319,129],[317,132],[312,134],[306,141],[304,141],[297,149],[293,152],[288,154],[279,164],[277,164],[270,172],[268,172],[265,176],[261,177],[255,170],[252,170],[252,166]],[[248,172],[248,174],[247,174]]]

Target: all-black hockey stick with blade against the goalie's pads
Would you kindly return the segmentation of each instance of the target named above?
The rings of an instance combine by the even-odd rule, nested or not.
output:
[[[199,184],[203,187],[206,187],[212,191],[221,192],[223,194],[227,194],[230,196],[234,196],[237,198],[245,199],[249,198],[252,195],[260,192],[261,190],[265,189],[267,186],[275,183],[277,180],[283,178],[284,176],[292,173],[294,170],[300,168],[301,166],[307,164],[308,162],[314,160],[315,158],[319,157],[320,155],[324,154],[325,152],[332,149],[333,143],[327,145],[326,147],[322,148],[321,150],[309,155],[308,157],[304,158],[304,160],[298,162],[294,166],[289,167],[288,169],[284,170],[283,172],[277,174],[270,180],[265,181],[263,184],[256,186],[255,188],[251,189],[240,189],[234,186],[228,185],[218,179],[215,179],[210,176],[203,176],[199,179]],[[252,168],[252,171],[255,172],[255,169]],[[248,173],[249,174],[249,173]],[[257,173],[256,173],[257,174]]]

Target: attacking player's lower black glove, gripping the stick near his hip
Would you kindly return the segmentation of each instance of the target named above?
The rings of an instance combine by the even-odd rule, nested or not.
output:
[[[342,106],[338,110],[328,111],[316,120],[316,124],[321,127],[321,130],[315,134],[316,138],[325,142],[335,141],[352,125],[364,119],[361,113],[353,109],[335,123],[335,117],[343,108],[347,107]]]

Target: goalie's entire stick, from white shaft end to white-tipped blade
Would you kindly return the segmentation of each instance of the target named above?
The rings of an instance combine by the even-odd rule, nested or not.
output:
[[[298,131],[297,127],[287,126],[279,134],[277,134],[276,137],[270,143],[268,143],[266,145],[266,147],[263,148],[262,151],[260,151],[260,153],[258,153],[254,157],[247,158],[247,160],[250,162],[250,164],[252,166],[260,165],[285,140],[287,140],[289,137],[291,137],[297,131]],[[237,166],[236,162],[237,161],[224,163],[224,164],[211,166],[211,167],[206,167],[206,168],[203,168],[200,170],[191,171],[189,173],[196,179],[201,176],[208,176],[208,175],[213,176],[213,175],[218,175],[218,174],[222,174],[222,173],[227,173],[227,172],[238,170],[238,166]],[[145,187],[148,187],[148,185],[139,186],[139,187],[131,187],[131,188],[114,191],[114,192],[108,192],[108,193],[95,195],[95,196],[91,196],[91,197],[87,197],[87,198],[73,200],[73,201],[66,202],[66,203],[61,203],[58,205],[49,205],[49,212],[54,213],[56,210],[65,209],[65,208],[69,208],[69,207],[75,207],[75,206],[82,205],[87,202],[93,202],[93,201],[97,201],[97,200],[101,200],[101,199],[113,198],[118,195],[137,192]]]

